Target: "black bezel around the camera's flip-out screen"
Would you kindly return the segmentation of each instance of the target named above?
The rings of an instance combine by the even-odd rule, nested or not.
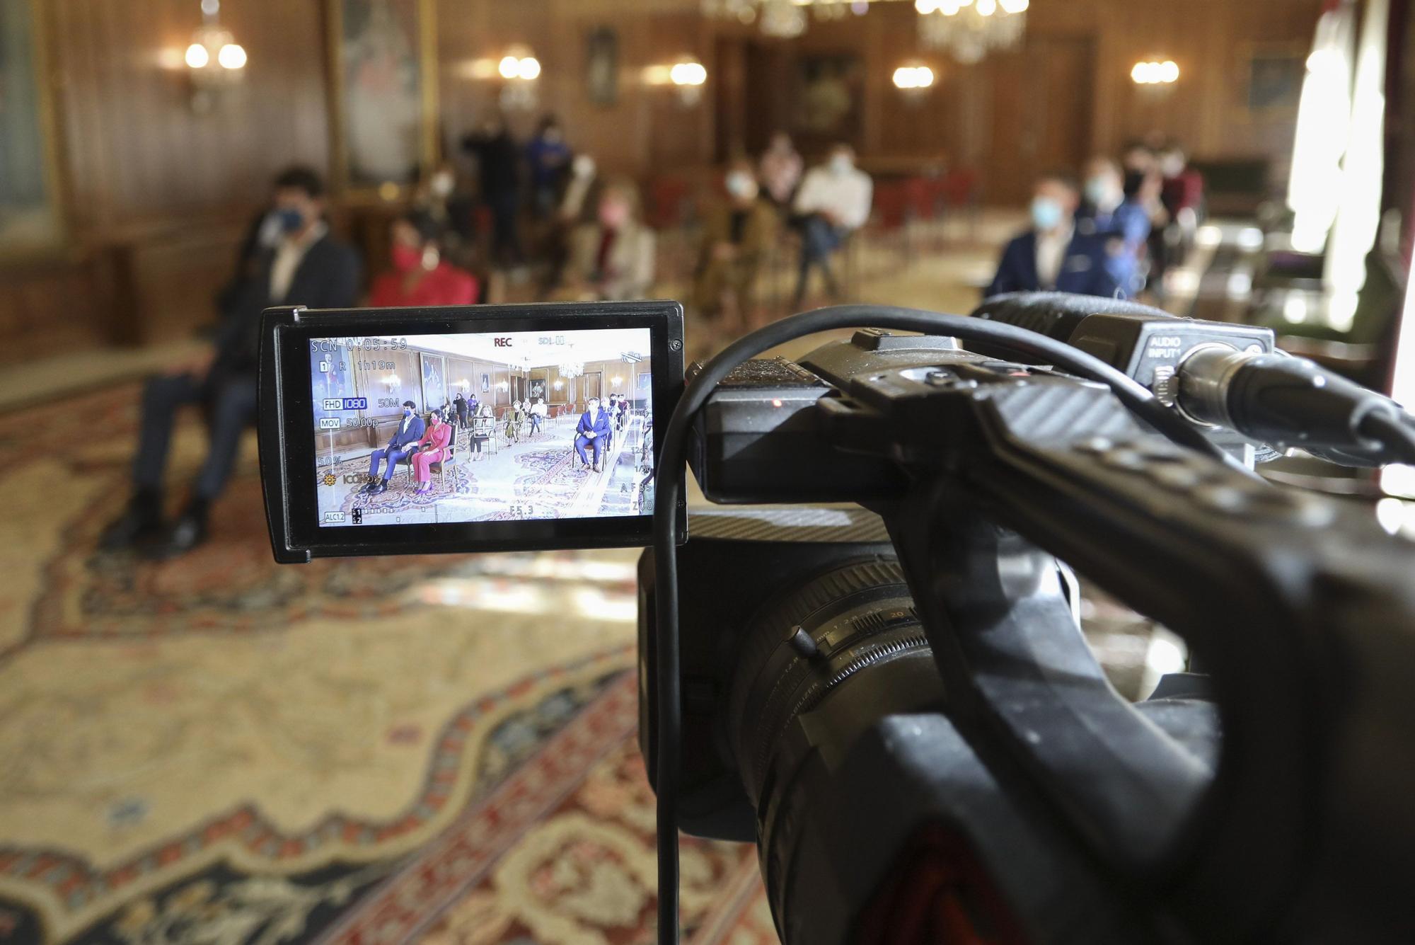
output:
[[[648,328],[654,457],[683,389],[683,310],[675,301],[543,303],[423,308],[270,308],[260,331],[260,478],[276,560],[652,545],[652,515],[512,522],[327,526],[316,492],[310,341],[512,331]],[[657,474],[655,474],[657,475]],[[682,477],[683,471],[679,470]],[[682,495],[682,488],[679,488]],[[679,504],[679,535],[686,505]]]

